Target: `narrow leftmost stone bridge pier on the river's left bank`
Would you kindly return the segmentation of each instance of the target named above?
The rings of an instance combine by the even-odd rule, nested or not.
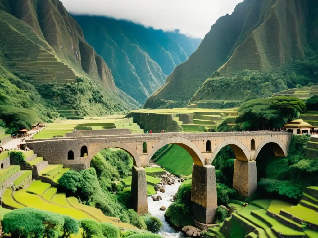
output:
[[[130,197],[132,206],[139,214],[148,212],[146,170],[133,166]]]

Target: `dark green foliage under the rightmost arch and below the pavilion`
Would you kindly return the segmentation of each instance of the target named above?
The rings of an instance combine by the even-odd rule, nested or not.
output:
[[[287,158],[275,157],[271,144],[261,150],[256,158],[259,195],[296,201],[304,188],[318,185],[318,161],[304,155],[309,137],[293,136]]]

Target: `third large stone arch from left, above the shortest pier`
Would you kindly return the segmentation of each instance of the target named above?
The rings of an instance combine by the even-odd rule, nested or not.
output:
[[[237,160],[241,161],[250,161],[251,155],[249,149],[242,143],[237,140],[229,139],[225,140],[221,144],[215,148],[215,150],[212,152],[212,155],[210,157],[211,163],[213,162],[215,156],[218,154],[218,152],[225,146],[229,145],[231,149],[234,151],[234,154],[236,156]]]

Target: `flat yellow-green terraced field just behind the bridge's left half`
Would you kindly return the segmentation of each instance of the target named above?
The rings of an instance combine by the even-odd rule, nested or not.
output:
[[[79,130],[101,130],[127,128],[133,134],[143,133],[140,127],[133,123],[132,118],[123,118],[123,116],[107,116],[107,117],[93,117],[79,120],[58,119],[53,123],[47,123],[46,128],[34,136],[34,139],[53,138],[63,136],[73,129]]]

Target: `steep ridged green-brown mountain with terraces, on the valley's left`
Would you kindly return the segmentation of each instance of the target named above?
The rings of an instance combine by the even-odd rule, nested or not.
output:
[[[0,65],[5,83],[28,91],[41,108],[105,115],[139,106],[116,88],[111,70],[59,0],[0,0]],[[20,99],[16,107],[34,108],[10,90],[0,98],[8,96]]]

